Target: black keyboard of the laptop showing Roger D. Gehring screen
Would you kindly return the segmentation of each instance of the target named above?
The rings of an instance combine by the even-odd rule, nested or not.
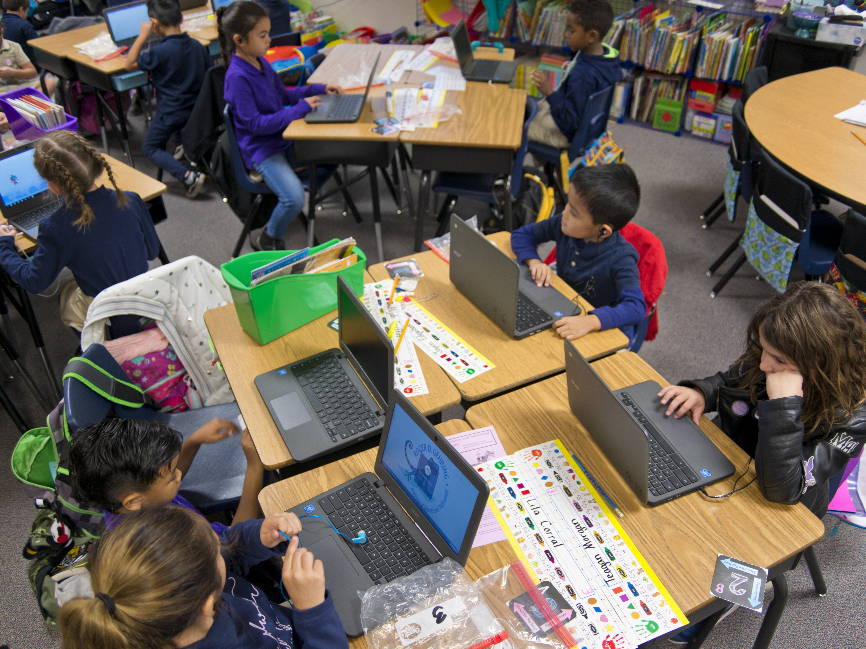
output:
[[[346,544],[373,582],[393,582],[397,577],[411,575],[433,563],[397,517],[397,513],[400,516],[404,513],[392,511],[370,480],[360,479],[320,498],[317,504],[337,531],[348,537],[356,537],[359,530],[365,531],[366,543]],[[415,525],[411,526],[415,529]]]

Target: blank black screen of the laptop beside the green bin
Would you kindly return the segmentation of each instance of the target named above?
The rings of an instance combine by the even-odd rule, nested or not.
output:
[[[339,349],[358,372],[378,404],[385,408],[394,388],[394,347],[342,277],[337,278]]]

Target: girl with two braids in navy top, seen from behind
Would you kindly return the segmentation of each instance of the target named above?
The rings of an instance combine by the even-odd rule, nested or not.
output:
[[[16,229],[0,226],[0,266],[31,293],[44,291],[68,267],[74,280],[61,292],[61,319],[81,332],[94,297],[145,273],[159,253],[159,239],[145,202],[118,189],[106,159],[78,134],[48,133],[36,143],[33,162],[63,201],[39,223],[32,259],[20,256]],[[104,175],[113,190],[104,186]]]

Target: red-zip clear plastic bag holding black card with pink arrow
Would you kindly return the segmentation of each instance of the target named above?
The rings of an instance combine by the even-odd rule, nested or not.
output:
[[[505,627],[513,649],[566,649],[598,641],[600,629],[592,633],[580,614],[582,606],[565,590],[571,586],[565,582],[536,586],[520,561],[484,575],[475,588]]]

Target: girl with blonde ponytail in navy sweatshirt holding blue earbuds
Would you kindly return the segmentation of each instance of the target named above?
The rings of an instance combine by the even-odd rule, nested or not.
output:
[[[322,562],[298,548],[294,514],[229,528],[221,546],[207,521],[184,507],[124,518],[87,562],[90,596],[60,611],[68,649],[339,649],[346,633],[325,589]],[[247,582],[249,567],[285,553],[282,585],[292,607],[272,604]],[[83,589],[86,593],[86,588]]]

